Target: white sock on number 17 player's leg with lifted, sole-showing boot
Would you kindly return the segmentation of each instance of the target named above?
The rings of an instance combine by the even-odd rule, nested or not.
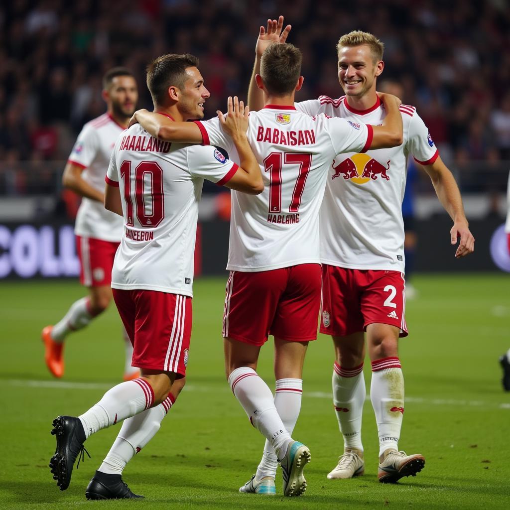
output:
[[[251,424],[283,458],[292,442],[276,407],[273,394],[263,379],[249,367],[236,368],[228,377],[232,392],[243,406]]]

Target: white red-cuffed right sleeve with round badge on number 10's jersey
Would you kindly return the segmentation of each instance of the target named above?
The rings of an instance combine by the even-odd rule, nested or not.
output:
[[[232,179],[239,166],[211,145],[187,148],[188,169],[194,177],[202,177],[223,186]]]

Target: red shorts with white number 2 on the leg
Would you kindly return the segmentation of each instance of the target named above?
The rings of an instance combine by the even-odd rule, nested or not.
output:
[[[403,273],[322,266],[320,332],[343,337],[369,324],[390,324],[407,336]]]

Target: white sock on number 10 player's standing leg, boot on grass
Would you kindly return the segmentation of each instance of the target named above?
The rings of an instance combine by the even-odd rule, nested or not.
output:
[[[163,418],[174,402],[175,398],[169,393],[161,404],[125,419],[115,442],[97,471],[112,475],[122,474],[126,464],[156,435]]]

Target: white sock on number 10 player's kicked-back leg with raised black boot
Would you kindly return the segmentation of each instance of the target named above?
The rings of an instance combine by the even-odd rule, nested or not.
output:
[[[97,404],[79,416],[85,437],[135,416],[154,403],[154,392],[144,379],[121,382],[108,390]]]

